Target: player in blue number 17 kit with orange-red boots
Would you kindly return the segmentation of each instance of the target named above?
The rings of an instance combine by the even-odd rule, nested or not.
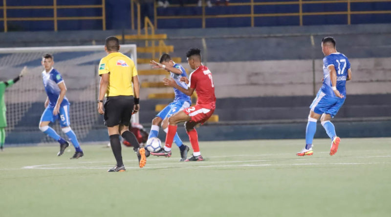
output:
[[[328,137],[331,138],[330,155],[334,155],[341,138],[335,133],[334,124],[330,122],[346,99],[346,81],[351,79],[350,62],[348,58],[338,53],[335,48],[335,40],[332,37],[322,39],[323,59],[323,85],[309,106],[305,131],[305,147],[297,156],[312,155],[312,140],[316,132],[316,122],[321,118],[322,126]]]

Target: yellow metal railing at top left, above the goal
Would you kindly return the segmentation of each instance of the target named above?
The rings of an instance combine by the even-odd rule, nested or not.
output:
[[[80,8],[102,8],[102,16],[98,17],[58,17],[58,9],[80,9]],[[52,20],[54,31],[58,30],[58,20],[102,20],[102,29],[106,30],[106,8],[105,0],[102,0],[102,4],[95,5],[57,5],[57,0],[53,0],[53,5],[30,5],[30,6],[7,6],[7,0],[3,0],[3,5],[0,6],[0,9],[3,10],[3,17],[0,18],[0,21],[4,22],[4,32],[8,31],[8,21],[42,21],[42,20]],[[52,9],[53,17],[29,17],[29,18],[17,18],[17,17],[7,17],[7,10],[15,9]]]

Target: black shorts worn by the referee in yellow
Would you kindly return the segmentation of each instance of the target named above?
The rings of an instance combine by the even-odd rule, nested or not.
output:
[[[105,125],[113,127],[119,124],[129,126],[133,111],[133,96],[108,97],[104,105]]]

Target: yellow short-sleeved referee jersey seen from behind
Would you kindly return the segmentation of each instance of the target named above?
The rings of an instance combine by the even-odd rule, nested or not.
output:
[[[133,96],[131,79],[137,75],[136,66],[128,56],[113,52],[102,58],[99,63],[99,75],[109,73],[107,96]]]

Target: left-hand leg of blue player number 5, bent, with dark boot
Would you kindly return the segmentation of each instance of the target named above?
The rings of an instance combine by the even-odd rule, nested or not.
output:
[[[67,142],[64,138],[62,138],[60,135],[56,133],[53,128],[49,126],[50,122],[54,122],[53,117],[53,108],[50,106],[47,106],[45,111],[43,112],[40,120],[39,129],[49,136],[50,138],[53,138],[54,140],[58,141],[60,143],[60,151],[57,153],[57,156],[61,156],[64,154],[65,148],[69,146],[69,142]]]

